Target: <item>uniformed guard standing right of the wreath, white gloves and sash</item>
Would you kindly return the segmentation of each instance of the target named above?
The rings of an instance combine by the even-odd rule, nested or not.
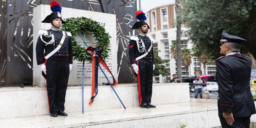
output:
[[[141,11],[138,12],[140,13],[139,15],[144,14]],[[138,12],[136,12],[136,17]],[[149,29],[146,20],[142,19],[136,22],[132,27],[132,29],[138,28],[140,29],[140,33],[137,36],[131,36],[129,42],[130,63],[137,75],[140,107],[155,108],[155,105],[151,105],[153,70],[155,64],[152,48],[152,42],[154,40],[146,35]]]

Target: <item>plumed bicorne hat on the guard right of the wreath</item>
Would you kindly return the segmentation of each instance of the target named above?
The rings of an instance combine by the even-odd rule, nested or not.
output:
[[[140,27],[140,26],[142,26],[142,25],[148,25],[148,22],[146,21],[146,20],[147,20],[147,17],[145,16],[145,13],[144,13],[144,12],[142,12],[142,11],[137,11],[135,17],[136,17],[138,20],[140,20],[140,21],[134,23],[134,25],[132,26],[131,29],[138,29],[138,27]],[[148,29],[150,29],[149,26],[148,26]]]

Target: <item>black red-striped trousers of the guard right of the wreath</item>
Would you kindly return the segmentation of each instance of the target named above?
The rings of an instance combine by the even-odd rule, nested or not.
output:
[[[153,62],[152,59],[141,58],[137,61],[139,71],[138,79],[138,95],[140,105],[150,104],[152,96],[152,81],[153,81]]]

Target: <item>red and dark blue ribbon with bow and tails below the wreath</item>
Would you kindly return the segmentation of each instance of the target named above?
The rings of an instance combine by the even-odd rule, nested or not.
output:
[[[92,93],[91,93],[91,99],[89,102],[89,105],[92,105],[94,98],[98,94],[98,67],[99,67],[99,62],[105,67],[106,70],[111,74],[113,78],[113,82],[111,82],[112,85],[117,85],[117,81],[114,78],[113,74],[109,70],[106,62],[103,60],[102,56],[100,55],[100,52],[102,49],[99,47],[88,47],[86,51],[92,55],[92,66],[93,66],[93,71],[92,71]]]

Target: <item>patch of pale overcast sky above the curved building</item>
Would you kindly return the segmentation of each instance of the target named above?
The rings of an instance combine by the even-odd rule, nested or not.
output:
[[[175,3],[175,0],[140,0],[141,9],[147,13],[150,9],[158,6]],[[137,0],[137,10],[139,10],[139,0]]]

